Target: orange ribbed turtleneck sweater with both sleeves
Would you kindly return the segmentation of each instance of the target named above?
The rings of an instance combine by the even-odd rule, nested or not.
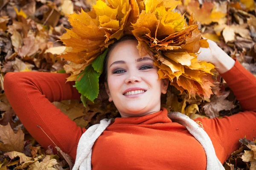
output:
[[[239,148],[239,138],[253,140],[256,133],[256,77],[239,62],[221,74],[234,91],[244,112],[222,119],[198,118],[212,140],[218,159],[223,164]],[[41,146],[50,139],[65,153],[76,158],[79,139],[86,129],[64,115],[51,102],[80,99],[66,82],[69,74],[18,72],[7,73],[4,90],[20,121]],[[206,155],[201,144],[186,130],[172,122],[166,109],[141,117],[116,118],[93,145],[92,168],[95,170],[205,170]]]

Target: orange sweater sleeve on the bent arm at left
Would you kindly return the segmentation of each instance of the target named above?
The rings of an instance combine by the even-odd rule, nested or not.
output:
[[[5,75],[3,84],[13,110],[35,140],[45,149],[49,145],[54,148],[56,144],[75,160],[79,139],[86,129],[78,127],[51,103],[80,99],[79,92],[73,88],[75,82],[66,83],[65,78],[69,75],[35,71],[10,72]]]

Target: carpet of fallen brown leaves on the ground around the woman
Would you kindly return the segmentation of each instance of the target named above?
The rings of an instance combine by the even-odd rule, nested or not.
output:
[[[44,150],[29,135],[5,96],[3,79],[8,72],[65,73],[63,66],[69,63],[56,56],[64,51],[58,38],[65,33],[64,28],[71,27],[67,14],[78,13],[81,8],[89,11],[93,3],[95,0],[0,1],[0,170],[72,168],[70,157],[58,147],[58,154],[54,155],[54,146]],[[256,76],[256,6],[253,0],[182,0],[175,10],[185,14],[187,21],[193,13],[203,37],[217,42],[230,57],[236,57]],[[233,91],[215,73],[214,95],[210,99],[189,99],[187,94],[180,94],[170,86],[168,93],[162,96],[162,106],[192,119],[230,116],[242,111]],[[87,108],[78,100],[53,104],[85,128],[104,118],[120,117],[113,103],[108,102],[103,84],[100,84],[96,102],[87,103]],[[239,150],[226,160],[225,169],[256,170],[256,142],[244,136],[240,143]]]

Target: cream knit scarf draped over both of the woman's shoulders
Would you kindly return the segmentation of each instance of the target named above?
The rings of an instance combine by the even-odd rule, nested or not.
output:
[[[168,113],[168,117],[172,122],[177,122],[186,127],[195,139],[202,145],[207,157],[206,170],[225,170],[221,162],[218,160],[212,141],[208,134],[189,116],[180,112]],[[94,142],[102,134],[102,132],[114,121],[111,119],[102,119],[99,124],[89,127],[79,139],[76,162],[72,170],[91,170],[92,147]]]

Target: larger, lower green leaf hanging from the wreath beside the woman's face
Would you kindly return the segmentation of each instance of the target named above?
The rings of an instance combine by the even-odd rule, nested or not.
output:
[[[76,79],[76,89],[87,99],[93,101],[99,94],[99,76],[92,65],[88,65]]]

